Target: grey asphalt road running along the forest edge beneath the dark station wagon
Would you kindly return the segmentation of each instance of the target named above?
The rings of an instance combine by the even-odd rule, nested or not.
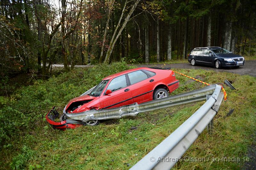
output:
[[[54,64],[55,67],[63,67],[61,64]],[[204,69],[204,70],[213,70],[215,72],[230,72],[236,73],[240,75],[251,75],[256,77],[256,60],[245,61],[244,66],[240,66],[239,68],[223,68],[223,69],[215,69],[210,66],[191,66],[190,63],[179,63],[179,64],[138,64],[135,65],[138,67],[171,67],[171,68],[186,68],[186,69]],[[87,65],[76,65],[75,67],[90,67]]]

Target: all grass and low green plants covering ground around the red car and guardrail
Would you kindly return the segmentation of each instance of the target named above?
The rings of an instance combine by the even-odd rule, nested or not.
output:
[[[11,169],[128,169],[156,147],[204,103],[183,105],[136,117],[108,120],[98,126],[60,131],[44,118],[52,106],[59,112],[67,102],[95,86],[103,77],[129,67],[121,63],[77,68],[70,73],[35,81],[11,97],[0,97],[0,167]],[[181,161],[175,169],[234,169],[243,162],[212,158],[245,157],[256,127],[256,78],[205,70],[175,69],[210,84],[221,84],[228,100],[214,118],[212,135],[207,130],[183,155],[208,161]],[[176,75],[180,87],[171,95],[205,85]],[[236,90],[223,84],[228,79]],[[230,109],[235,109],[227,115]],[[136,127],[131,128],[131,127]]]

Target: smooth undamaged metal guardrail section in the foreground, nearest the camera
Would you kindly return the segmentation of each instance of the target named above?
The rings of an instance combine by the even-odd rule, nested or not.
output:
[[[208,128],[212,128],[212,120],[217,114],[224,96],[220,93],[221,86],[214,86],[212,96],[207,97],[208,100],[179,128],[132,166],[132,170],[171,169],[205,127],[208,125]]]

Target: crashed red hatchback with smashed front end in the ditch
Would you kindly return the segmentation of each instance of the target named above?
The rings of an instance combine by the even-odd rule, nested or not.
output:
[[[89,93],[71,99],[63,113],[79,113],[91,109],[107,109],[133,103],[140,104],[153,99],[168,97],[169,93],[178,87],[179,81],[170,68],[134,68],[102,79]],[[46,120],[53,127],[59,129],[76,127],[76,124],[67,123],[66,120],[55,122],[54,119],[58,115],[53,108],[46,115]],[[94,126],[99,124],[99,120],[92,120],[86,124]]]

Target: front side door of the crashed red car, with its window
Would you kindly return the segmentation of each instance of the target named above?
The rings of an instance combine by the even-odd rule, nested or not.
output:
[[[133,104],[132,93],[127,86],[128,81],[125,74],[114,78],[99,98],[101,109]],[[112,93],[106,95],[105,93],[108,89]]]

